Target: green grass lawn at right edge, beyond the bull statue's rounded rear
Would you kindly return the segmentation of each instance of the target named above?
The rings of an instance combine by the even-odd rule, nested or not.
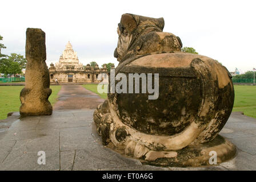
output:
[[[243,111],[245,115],[256,118],[256,86],[234,85],[234,89],[233,111]]]

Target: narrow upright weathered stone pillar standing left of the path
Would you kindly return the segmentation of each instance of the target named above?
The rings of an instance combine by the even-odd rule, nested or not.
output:
[[[45,63],[45,32],[39,28],[27,28],[26,60],[26,82],[20,94],[19,113],[22,117],[51,114],[53,107],[48,101],[51,89],[49,71]]]

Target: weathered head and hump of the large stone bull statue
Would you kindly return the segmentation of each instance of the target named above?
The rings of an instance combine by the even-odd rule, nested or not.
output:
[[[118,46],[114,57],[124,61],[136,55],[152,52],[181,51],[182,43],[178,36],[163,32],[163,18],[123,14],[118,23]]]

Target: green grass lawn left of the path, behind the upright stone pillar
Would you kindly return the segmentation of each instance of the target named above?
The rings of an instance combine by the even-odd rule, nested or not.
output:
[[[0,86],[0,119],[5,119],[7,113],[19,111],[19,106],[21,106],[21,101],[19,101],[19,93],[24,86]],[[54,105],[57,101],[57,94],[61,89],[61,86],[53,85],[50,86],[53,92],[49,97],[51,105]]]

